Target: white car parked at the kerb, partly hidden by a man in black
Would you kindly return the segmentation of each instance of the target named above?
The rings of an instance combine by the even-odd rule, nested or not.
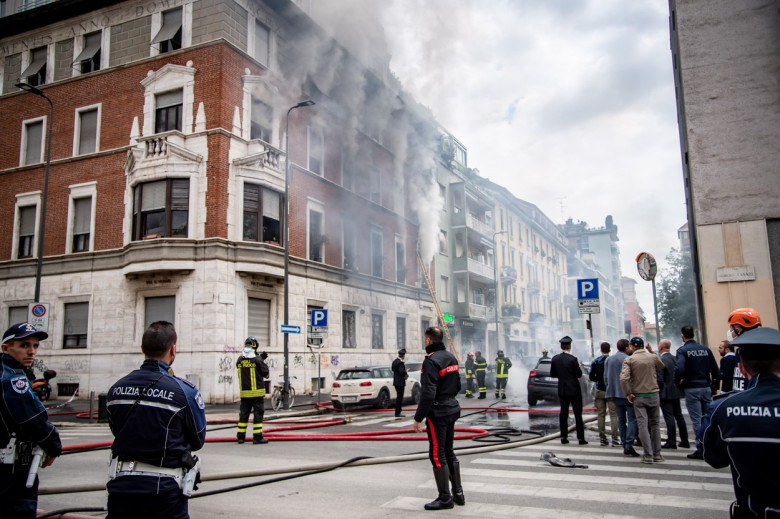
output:
[[[411,399],[416,404],[420,400],[420,382],[410,377],[406,385],[407,388],[411,386],[411,392],[405,395],[405,400]],[[349,405],[387,409],[394,399],[393,371],[388,366],[342,369],[330,392],[331,403],[336,409]]]

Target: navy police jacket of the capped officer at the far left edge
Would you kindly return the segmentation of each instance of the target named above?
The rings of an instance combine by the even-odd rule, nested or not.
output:
[[[62,452],[60,435],[30,389],[24,366],[5,353],[2,354],[0,417],[0,448],[8,445],[13,435],[17,441],[39,445],[49,456],[56,457]]]

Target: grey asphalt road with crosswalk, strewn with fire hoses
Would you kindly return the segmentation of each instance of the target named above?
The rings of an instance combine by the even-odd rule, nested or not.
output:
[[[511,398],[500,404],[487,400],[463,399],[464,408],[477,404],[520,407],[524,401]],[[83,405],[83,404],[80,404]],[[235,419],[235,406],[209,407],[209,419]],[[675,517],[698,519],[727,517],[733,500],[728,470],[715,470],[701,461],[688,460],[688,450],[664,451],[667,461],[642,465],[637,458],[622,455],[620,448],[599,447],[598,435],[590,429],[586,446],[562,446],[557,438],[542,435],[556,433],[557,414],[554,406],[538,406],[548,414],[526,412],[487,413],[482,409],[464,409],[458,425],[470,428],[510,433],[505,439],[530,443],[506,448],[503,443],[459,440],[463,486],[467,504],[441,515],[457,517],[534,517],[577,518],[650,518]],[[190,501],[193,518],[211,517],[273,517],[332,518],[342,517],[430,517],[423,505],[435,497],[430,463],[427,461],[425,435],[403,432],[411,428],[411,411],[407,418],[395,419],[390,412],[328,413],[321,418],[341,417],[347,423],[304,432],[278,432],[288,427],[285,422],[317,418],[297,416],[310,412],[310,404],[296,407],[293,412],[268,413],[265,430],[269,437],[282,434],[341,434],[366,431],[399,432],[402,436],[417,436],[418,440],[381,441],[271,441],[267,445],[234,442],[207,443],[198,454],[206,479],[221,475],[254,472],[252,477],[210,480],[199,492],[225,489],[247,483],[260,483],[251,488],[195,497]],[[70,418],[68,418],[70,417]],[[62,415],[60,431],[65,445],[110,441],[105,424],[88,424],[85,419]],[[289,417],[289,418],[288,418]],[[53,417],[57,419],[57,416]],[[66,423],[67,422],[67,423]],[[68,424],[69,423],[69,424]],[[591,427],[594,424],[590,424]],[[235,429],[227,425],[209,427],[209,438],[233,438]],[[525,432],[518,432],[525,431]],[[573,435],[572,435],[573,436]],[[544,438],[541,438],[542,440]],[[500,442],[501,438],[491,440]],[[482,452],[474,452],[474,449]],[[502,449],[502,450],[494,450]],[[64,489],[78,485],[102,488],[106,481],[109,451],[94,451],[62,456],[50,468],[41,471],[42,493],[47,489]],[[544,452],[588,465],[588,468],[553,467],[540,460]],[[388,463],[350,466],[293,477],[301,470],[323,469],[354,457],[381,458]],[[392,461],[393,457],[399,457]],[[365,463],[365,462],[363,462]],[[292,471],[292,472],[291,472]],[[296,472],[297,471],[297,472]],[[290,477],[278,481],[279,478]],[[197,496],[197,494],[196,494]],[[41,495],[39,508],[55,510],[71,507],[101,507],[105,492]],[[103,514],[95,514],[102,516]]]

